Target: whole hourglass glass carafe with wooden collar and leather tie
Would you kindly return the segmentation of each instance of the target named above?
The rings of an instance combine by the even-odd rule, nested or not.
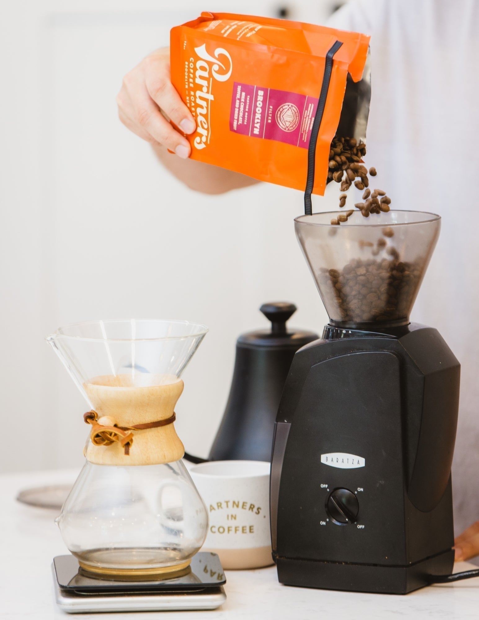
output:
[[[48,336],[91,409],[86,463],[56,520],[84,570],[177,576],[202,546],[208,513],[173,422],[182,371],[207,331],[187,321],[94,321]]]

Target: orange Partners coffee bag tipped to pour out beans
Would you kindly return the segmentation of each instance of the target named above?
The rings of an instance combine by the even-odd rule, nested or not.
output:
[[[365,139],[368,45],[355,32],[226,13],[173,28],[171,81],[197,123],[192,159],[323,195],[340,120],[341,135]]]

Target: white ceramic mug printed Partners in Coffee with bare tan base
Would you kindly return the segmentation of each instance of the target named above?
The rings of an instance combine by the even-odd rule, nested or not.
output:
[[[210,520],[202,551],[217,553],[223,569],[273,563],[269,470],[264,461],[212,461],[190,468]]]

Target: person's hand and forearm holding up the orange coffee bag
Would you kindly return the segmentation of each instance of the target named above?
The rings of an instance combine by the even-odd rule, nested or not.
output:
[[[189,159],[189,142],[160,111],[184,133],[195,131],[194,118],[171,84],[168,47],[146,56],[127,73],[117,104],[123,125],[149,142],[164,167],[188,187],[198,192],[223,193],[257,183],[238,172]]]

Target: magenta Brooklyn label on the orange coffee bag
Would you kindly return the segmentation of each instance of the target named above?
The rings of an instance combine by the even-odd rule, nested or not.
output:
[[[230,130],[307,149],[317,107],[316,97],[235,82]]]

